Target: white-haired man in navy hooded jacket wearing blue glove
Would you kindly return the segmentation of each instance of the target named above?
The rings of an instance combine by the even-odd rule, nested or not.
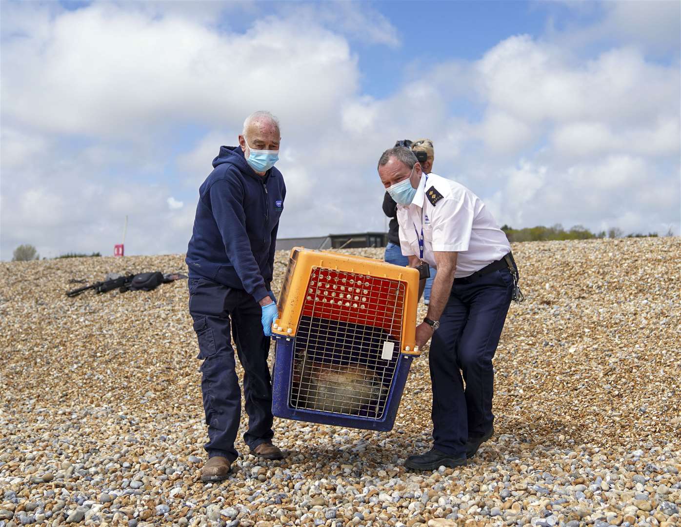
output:
[[[283,458],[272,445],[272,383],[267,357],[278,317],[270,291],[274,246],[286,187],[279,159],[279,121],[255,112],[244,121],[239,146],[221,146],[214,170],[199,189],[187,249],[189,313],[199,341],[201,389],[208,425],[202,481],[228,477],[238,457],[234,440],[241,391],[231,336],[244,368],[249,426],[244,443],[260,458]]]

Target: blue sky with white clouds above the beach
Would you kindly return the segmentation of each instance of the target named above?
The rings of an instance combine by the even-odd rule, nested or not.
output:
[[[197,189],[253,110],[281,120],[279,236],[381,230],[376,163],[500,224],[680,233],[680,3],[8,2],[0,259],[183,253]]]

